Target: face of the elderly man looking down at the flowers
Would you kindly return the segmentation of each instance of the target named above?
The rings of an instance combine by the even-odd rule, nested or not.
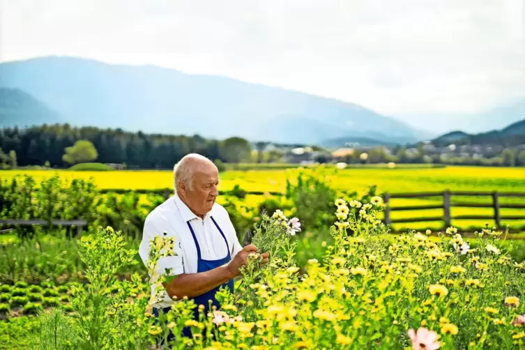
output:
[[[185,199],[196,215],[206,215],[219,195],[219,174],[213,166],[206,166],[195,173],[193,190],[186,190]]]

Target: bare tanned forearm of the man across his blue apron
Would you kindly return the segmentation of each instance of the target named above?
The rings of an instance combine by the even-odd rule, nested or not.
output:
[[[164,284],[170,298],[194,298],[220,286],[234,278],[227,266],[199,273],[183,273],[171,282]]]

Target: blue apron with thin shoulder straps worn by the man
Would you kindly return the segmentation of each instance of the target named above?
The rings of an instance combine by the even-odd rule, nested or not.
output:
[[[186,222],[186,224],[188,224],[188,227],[190,228],[190,231],[192,233],[193,241],[195,242],[195,247],[197,248],[197,273],[213,270],[214,268],[223,266],[229,263],[229,261],[231,261],[231,254],[229,251],[229,245],[228,245],[226,236],[222,232],[222,229],[220,229],[219,225],[217,225],[217,222],[215,221],[215,219],[213,219],[213,216],[211,217],[211,220],[213,221],[213,224],[215,224],[215,227],[217,227],[217,229],[219,230],[222,238],[224,238],[228,252],[227,252],[226,257],[222,259],[218,259],[218,260],[202,259],[201,248],[199,247],[199,242],[197,242],[197,237],[195,237],[195,232],[193,231],[192,225],[190,225],[189,221]],[[210,291],[206,291],[206,293],[201,294],[200,296],[195,296],[195,298],[193,298],[193,300],[195,301],[195,304],[197,304],[197,307],[195,307],[195,309],[193,310],[193,316],[195,317],[196,320],[199,320],[199,307],[198,307],[199,305],[204,305],[204,315],[208,314],[208,312],[210,311],[210,307],[209,307],[210,303],[208,302],[208,300],[211,300],[212,307],[213,306],[217,308],[220,307],[219,302],[217,301],[217,299],[215,299],[215,293],[219,291],[220,287],[227,287],[229,288],[231,293],[233,293],[234,292],[234,280],[229,280],[225,284],[215,287],[211,289]],[[163,309],[163,312],[167,313],[169,310],[171,310],[171,307],[165,307]],[[159,314],[158,309],[153,308],[153,314],[155,315],[155,317],[158,317],[158,314]],[[190,328],[184,328],[183,335],[185,337],[191,337],[192,333],[191,333]],[[168,337],[168,341],[172,341],[173,339],[174,339],[174,335],[170,334]]]

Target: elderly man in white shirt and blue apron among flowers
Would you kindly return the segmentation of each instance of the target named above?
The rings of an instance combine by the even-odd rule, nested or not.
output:
[[[153,305],[155,315],[160,309],[167,312],[174,299],[185,296],[204,305],[206,312],[208,300],[219,307],[215,293],[221,286],[233,292],[234,277],[247,265],[248,254],[257,252],[254,245],[241,247],[226,209],[215,203],[218,185],[218,169],[213,162],[202,155],[186,155],[174,167],[176,194],[146,218],[139,248],[146,266],[154,236],[166,234],[176,241],[176,254],[158,261],[160,271],[170,268],[177,277],[164,284],[162,302]],[[262,257],[268,262],[267,252]],[[190,335],[188,330],[185,335]]]

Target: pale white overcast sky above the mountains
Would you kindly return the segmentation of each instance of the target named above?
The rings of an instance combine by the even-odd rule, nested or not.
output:
[[[416,126],[525,98],[525,0],[0,0],[0,11],[0,61],[154,64]]]

